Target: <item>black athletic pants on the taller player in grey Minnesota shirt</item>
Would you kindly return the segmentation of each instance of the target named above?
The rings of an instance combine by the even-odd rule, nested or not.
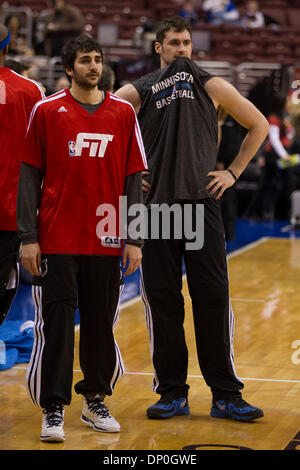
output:
[[[214,397],[220,399],[228,393],[239,394],[243,384],[233,365],[234,316],[220,207],[215,199],[194,201],[194,212],[197,202],[204,204],[203,248],[186,250],[185,240],[174,238],[145,240],[141,292],[154,366],[153,390],[186,396],[188,351],[181,294],[184,259],[200,369]]]

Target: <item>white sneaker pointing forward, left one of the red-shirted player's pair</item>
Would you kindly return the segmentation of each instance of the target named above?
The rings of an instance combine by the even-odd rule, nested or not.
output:
[[[64,413],[63,405],[51,405],[43,409],[41,441],[63,442],[65,440]]]

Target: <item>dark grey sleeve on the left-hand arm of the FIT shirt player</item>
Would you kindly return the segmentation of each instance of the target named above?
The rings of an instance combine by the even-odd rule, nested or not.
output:
[[[37,211],[40,204],[43,171],[22,162],[17,198],[18,235],[24,245],[37,243]]]

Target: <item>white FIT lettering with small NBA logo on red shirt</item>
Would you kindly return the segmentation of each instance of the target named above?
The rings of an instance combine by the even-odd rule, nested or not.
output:
[[[77,134],[76,141],[69,141],[70,157],[81,157],[84,148],[89,149],[89,157],[103,158],[107,149],[108,142],[113,140],[114,136],[110,134],[94,134],[80,132]]]

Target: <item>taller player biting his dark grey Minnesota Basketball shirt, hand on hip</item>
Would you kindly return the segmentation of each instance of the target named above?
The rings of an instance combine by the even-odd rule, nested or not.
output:
[[[165,419],[190,413],[181,294],[184,260],[199,366],[212,392],[211,415],[252,421],[262,417],[263,411],[243,400],[243,384],[234,368],[234,317],[219,199],[257,152],[268,123],[231,84],[191,60],[191,28],[181,17],[162,22],[155,51],[161,68],[116,94],[139,113],[150,171],[144,182],[149,218],[153,204],[176,202],[183,209],[189,205],[194,220],[202,206],[204,245],[187,248],[187,239],[174,235],[169,240],[145,240],[142,294],[154,365],[153,389],[161,395],[147,415]],[[238,154],[223,171],[215,171],[219,107],[248,129]]]

